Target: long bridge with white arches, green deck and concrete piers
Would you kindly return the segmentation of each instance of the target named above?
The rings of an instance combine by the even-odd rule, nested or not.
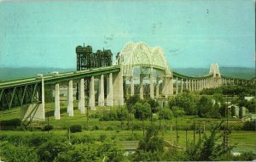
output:
[[[89,92],[85,92],[85,81],[90,84]],[[170,69],[161,47],[128,42],[115,65],[1,82],[0,110],[20,107],[23,120],[45,120],[44,88],[47,85],[55,89],[55,120],[60,120],[60,85],[67,89],[67,113],[73,116],[75,89],[79,110],[84,114],[85,93],[89,94],[89,108],[95,110],[96,103],[97,106],[124,105],[124,95],[139,94],[142,99],[147,94],[150,98],[168,98],[185,89],[201,91],[227,84],[247,86],[254,83],[221,75],[218,64],[211,64],[207,75],[182,75]]]

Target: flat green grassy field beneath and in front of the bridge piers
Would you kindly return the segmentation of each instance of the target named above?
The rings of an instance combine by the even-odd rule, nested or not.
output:
[[[109,139],[114,139],[117,141],[139,141],[143,138],[143,126],[150,126],[151,121],[146,120],[143,124],[143,121],[140,120],[132,120],[130,122],[130,128],[133,126],[133,130],[127,130],[127,120],[123,122],[121,126],[121,121],[99,121],[98,118],[93,118],[93,115],[102,114],[106,111],[110,111],[116,108],[97,108],[96,111],[89,111],[88,116],[90,118],[87,120],[87,115],[81,115],[79,113],[79,109],[77,109],[77,102],[74,102],[74,116],[69,117],[67,114],[67,103],[61,102],[61,120],[55,120],[54,118],[54,103],[46,103],[46,120],[44,122],[33,122],[30,127],[31,131],[1,131],[2,135],[12,136],[12,135],[24,135],[24,136],[33,136],[35,134],[39,135],[47,135],[47,131],[39,131],[33,129],[34,127],[42,127],[48,124],[55,127],[53,131],[49,131],[50,135],[57,135],[61,137],[67,137],[67,128],[68,126],[72,126],[74,124],[79,124],[83,126],[83,131],[79,133],[72,133],[71,138],[74,137],[83,137],[85,135],[99,138],[102,135],[106,135]],[[124,108],[125,109],[125,108]],[[49,117],[48,117],[49,115]],[[11,120],[15,118],[20,118],[20,108],[10,109],[1,112],[0,120]],[[159,126],[161,124],[162,130],[160,131],[160,136],[164,137],[167,142],[172,143],[172,145],[177,145],[179,147],[186,147],[186,131],[185,128],[191,128],[193,126],[195,120],[195,127],[198,130],[199,127],[204,129],[207,135],[210,132],[210,127],[212,123],[210,122],[212,119],[195,119],[193,116],[186,116],[183,118],[177,118],[177,128],[176,131],[176,119],[172,120],[158,120],[158,116],[154,115],[155,126]],[[199,122],[201,121],[201,122]],[[204,122],[202,122],[204,121]],[[233,120],[232,122],[240,123],[238,120]],[[205,124],[204,124],[205,123]],[[242,124],[242,123],[241,123]],[[18,129],[18,128],[17,128]],[[171,131],[172,129],[172,131]],[[178,136],[178,138],[177,138]],[[203,135],[201,135],[202,138]],[[236,145],[236,150],[252,150],[256,152],[256,132],[255,131],[232,131],[229,135],[229,143],[232,145]],[[195,143],[199,140],[199,134],[195,132]],[[187,141],[194,141],[194,131],[189,129],[187,131]],[[219,140],[222,142],[222,139]],[[135,142],[137,143],[137,142]]]

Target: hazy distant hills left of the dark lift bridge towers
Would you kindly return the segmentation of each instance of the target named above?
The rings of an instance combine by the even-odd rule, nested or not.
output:
[[[74,69],[60,68],[0,68],[0,81],[9,81],[20,78],[34,77],[38,74],[47,75],[53,71],[67,72]]]

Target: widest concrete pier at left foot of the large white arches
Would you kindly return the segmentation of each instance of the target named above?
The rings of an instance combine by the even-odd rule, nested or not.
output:
[[[124,79],[122,69],[118,73],[113,73],[113,104],[124,105]]]

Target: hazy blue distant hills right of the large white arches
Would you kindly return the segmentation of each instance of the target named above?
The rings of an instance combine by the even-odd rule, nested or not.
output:
[[[173,69],[177,73],[190,76],[206,75],[209,72],[207,68],[178,68]],[[254,68],[238,68],[238,67],[220,67],[221,75],[234,78],[252,79],[255,75]]]

